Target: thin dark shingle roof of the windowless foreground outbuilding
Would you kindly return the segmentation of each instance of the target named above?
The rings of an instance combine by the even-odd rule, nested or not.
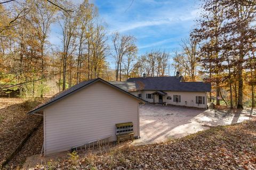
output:
[[[57,100],[59,100],[59,99],[61,99],[63,97],[66,97],[68,95],[71,95],[71,94],[73,94],[73,92],[76,92],[76,91],[78,91],[80,89],[83,89],[84,87],[88,86],[89,84],[92,84],[92,83],[97,82],[97,81],[101,81],[103,83],[109,84],[109,86],[113,86],[113,87],[115,87],[115,88],[125,92],[126,94],[128,94],[128,95],[130,95],[130,96],[132,96],[134,98],[137,98],[138,100],[140,100],[142,102],[146,102],[145,100],[142,100],[141,98],[138,98],[137,96],[134,96],[134,95],[130,94],[129,92],[123,90],[122,88],[119,88],[119,87],[115,86],[114,84],[108,83],[105,80],[97,78],[97,79],[92,79],[92,80],[88,80],[88,81],[83,81],[81,83],[76,84],[75,86],[70,87],[69,89],[66,89],[64,91],[59,92],[58,94],[54,95],[52,98],[50,98],[45,103],[43,103],[41,105],[38,105],[33,110],[29,111],[28,114],[33,114],[35,112],[38,112],[41,109],[43,109],[45,106],[50,105],[52,103],[55,103],[55,101],[57,101]]]

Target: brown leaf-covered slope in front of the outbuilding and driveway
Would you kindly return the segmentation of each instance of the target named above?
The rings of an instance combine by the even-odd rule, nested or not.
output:
[[[34,169],[255,169],[256,119],[166,143],[72,156]]]

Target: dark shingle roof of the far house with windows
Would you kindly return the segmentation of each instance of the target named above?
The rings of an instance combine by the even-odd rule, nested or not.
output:
[[[127,82],[134,82],[137,90],[161,91],[194,91],[210,92],[211,84],[204,82],[182,82],[182,76],[176,77],[146,77],[130,78]]]

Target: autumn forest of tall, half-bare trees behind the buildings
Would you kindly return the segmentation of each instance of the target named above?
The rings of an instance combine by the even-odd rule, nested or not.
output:
[[[107,32],[97,7],[84,0],[0,3],[0,92],[48,97],[89,79],[173,75],[212,84],[209,101],[255,107],[256,2],[202,0],[201,13],[180,50],[138,55],[137,38]],[[61,44],[50,43],[52,25]],[[115,68],[111,69],[110,59]]]

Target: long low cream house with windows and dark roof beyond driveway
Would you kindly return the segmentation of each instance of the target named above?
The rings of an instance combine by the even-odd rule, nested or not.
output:
[[[144,74],[142,78],[130,78],[123,84],[111,83],[149,103],[198,108],[207,108],[207,95],[211,91],[210,83],[185,82],[179,72],[173,77],[145,77]],[[127,83],[130,83],[129,88],[124,88]]]

